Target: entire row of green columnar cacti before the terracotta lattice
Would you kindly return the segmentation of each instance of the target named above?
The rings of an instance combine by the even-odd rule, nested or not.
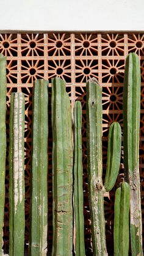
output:
[[[102,87],[95,78],[86,85],[88,197],[93,255],[106,256],[104,192],[117,180],[121,159],[121,127],[113,122],[109,128],[107,167],[103,185]],[[0,245],[4,219],[4,178],[6,155],[5,132],[6,71],[5,57],[0,55]],[[84,198],[82,188],[82,106],[76,101],[74,124],[66,84],[52,79],[52,256],[85,255]],[[126,58],[123,92],[124,180],[115,192],[114,254],[128,256],[129,227],[131,254],[143,255],[142,211],[140,207],[139,125],[140,67],[139,57]],[[74,136],[73,136],[74,132]],[[10,256],[24,255],[24,94],[12,93],[10,100],[9,202]],[[74,141],[74,144],[73,144]],[[73,159],[74,157],[74,159]],[[31,256],[47,255],[48,232],[48,81],[35,81],[31,164]],[[129,218],[130,211],[130,218]],[[130,219],[130,225],[129,225]],[[0,252],[1,255],[1,252]]]

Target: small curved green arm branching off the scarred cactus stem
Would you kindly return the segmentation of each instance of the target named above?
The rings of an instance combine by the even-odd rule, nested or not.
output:
[[[117,122],[110,125],[109,143],[107,150],[107,170],[104,182],[106,191],[110,191],[117,180],[118,171],[120,169],[121,158],[121,127]]]

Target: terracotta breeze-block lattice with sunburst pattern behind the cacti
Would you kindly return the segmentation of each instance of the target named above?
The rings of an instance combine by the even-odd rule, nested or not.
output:
[[[48,34],[1,34],[0,52],[7,56],[7,144],[9,147],[9,106],[10,94],[18,90],[26,99],[25,123],[25,184],[26,184],[26,248],[29,242],[29,184],[31,169],[32,89],[35,79],[49,79],[60,76],[67,82],[73,109],[74,101],[82,103],[82,136],[84,164],[84,218],[85,247],[87,255],[92,252],[87,186],[87,145],[86,145],[86,95],[85,82],[90,77],[98,79],[103,86],[103,166],[106,170],[107,136],[110,123],[120,122],[123,129],[123,77],[126,55],[135,52],[140,56],[142,71],[142,105],[140,121],[140,177],[142,188],[142,214],[144,214],[144,35],[132,33],[89,34],[89,33],[48,33]],[[51,89],[49,89],[49,95]],[[49,102],[49,123],[50,117]],[[52,244],[52,177],[51,151],[52,133],[49,125],[49,172],[48,172],[48,246]],[[123,177],[123,150],[121,151],[121,174]],[[5,178],[4,250],[9,249],[9,162]],[[110,197],[104,197],[106,214],[107,249],[113,248],[113,203],[115,188]],[[143,216],[144,217],[144,216]]]

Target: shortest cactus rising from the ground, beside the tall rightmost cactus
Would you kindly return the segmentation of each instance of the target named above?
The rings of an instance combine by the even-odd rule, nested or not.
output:
[[[129,254],[129,205],[130,188],[128,183],[121,184],[115,193],[114,210],[114,255]]]

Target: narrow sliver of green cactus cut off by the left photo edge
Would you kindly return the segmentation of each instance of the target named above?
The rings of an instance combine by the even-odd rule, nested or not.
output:
[[[0,54],[0,256],[2,248],[2,227],[4,223],[5,200],[5,157],[6,157],[6,57]]]

